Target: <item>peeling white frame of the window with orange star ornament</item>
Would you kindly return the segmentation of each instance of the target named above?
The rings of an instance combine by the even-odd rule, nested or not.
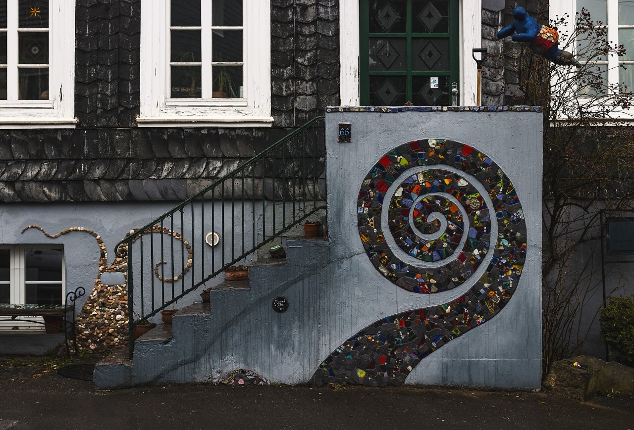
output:
[[[7,57],[18,62],[18,0],[7,0]],[[25,29],[26,30],[26,29]],[[32,30],[32,29],[28,29]],[[36,29],[37,31],[37,29]],[[74,128],[75,2],[49,0],[49,99],[15,100],[17,75],[8,68],[7,100],[0,100],[0,129]],[[11,59],[11,60],[10,60]],[[15,85],[11,85],[13,79]],[[14,99],[11,98],[13,92]]]

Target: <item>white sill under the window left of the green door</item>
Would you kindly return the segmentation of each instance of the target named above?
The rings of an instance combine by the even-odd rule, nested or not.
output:
[[[138,117],[139,127],[271,127],[271,117]]]

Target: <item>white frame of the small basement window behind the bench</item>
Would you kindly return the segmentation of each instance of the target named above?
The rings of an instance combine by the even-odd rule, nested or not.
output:
[[[66,263],[64,258],[64,249],[61,244],[20,244],[20,245],[0,245],[0,250],[10,250],[11,258],[10,258],[10,301],[13,304],[23,304],[26,300],[27,294],[27,284],[29,282],[35,281],[27,281],[26,280],[26,262],[24,252],[25,250],[30,249],[37,250],[61,250],[61,304],[64,304],[66,300]],[[58,283],[57,281],[44,281],[49,283]],[[3,282],[4,283],[4,282]],[[39,282],[41,283],[41,282]],[[6,285],[6,284],[5,284]],[[0,315],[0,319],[7,319],[8,317],[4,317]],[[25,317],[18,317],[25,318]],[[30,320],[41,321],[44,322],[42,317],[29,317]],[[23,322],[23,321],[0,321],[0,331],[11,330],[13,327],[18,327],[18,330],[29,330],[29,331],[44,331],[46,327],[42,326],[42,324],[34,324],[31,322]]]

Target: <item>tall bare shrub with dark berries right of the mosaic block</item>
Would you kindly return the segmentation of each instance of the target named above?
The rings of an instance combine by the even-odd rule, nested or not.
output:
[[[621,119],[634,94],[623,82],[607,80],[608,56],[621,57],[625,48],[609,42],[603,23],[585,9],[569,32],[562,31],[569,16],[551,18],[538,21],[559,27],[560,47],[576,55],[580,68],[549,63],[516,44],[500,55],[512,74],[506,104],[544,111],[544,374],[556,360],[576,355],[597,327],[602,215],[634,213],[634,128]]]

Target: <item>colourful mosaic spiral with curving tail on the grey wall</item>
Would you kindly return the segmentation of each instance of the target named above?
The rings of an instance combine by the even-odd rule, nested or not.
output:
[[[408,142],[368,172],[359,237],[375,268],[413,294],[469,285],[456,300],[380,319],[333,351],[313,383],[401,384],[451,339],[505,307],[526,259],[526,224],[513,184],[472,146]]]

